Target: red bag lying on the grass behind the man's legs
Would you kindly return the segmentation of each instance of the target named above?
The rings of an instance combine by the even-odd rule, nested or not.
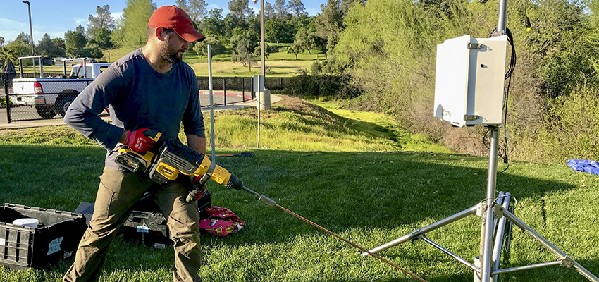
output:
[[[226,207],[211,207],[206,209],[208,218],[199,221],[199,231],[217,236],[226,236],[240,231],[245,222],[237,214]]]

